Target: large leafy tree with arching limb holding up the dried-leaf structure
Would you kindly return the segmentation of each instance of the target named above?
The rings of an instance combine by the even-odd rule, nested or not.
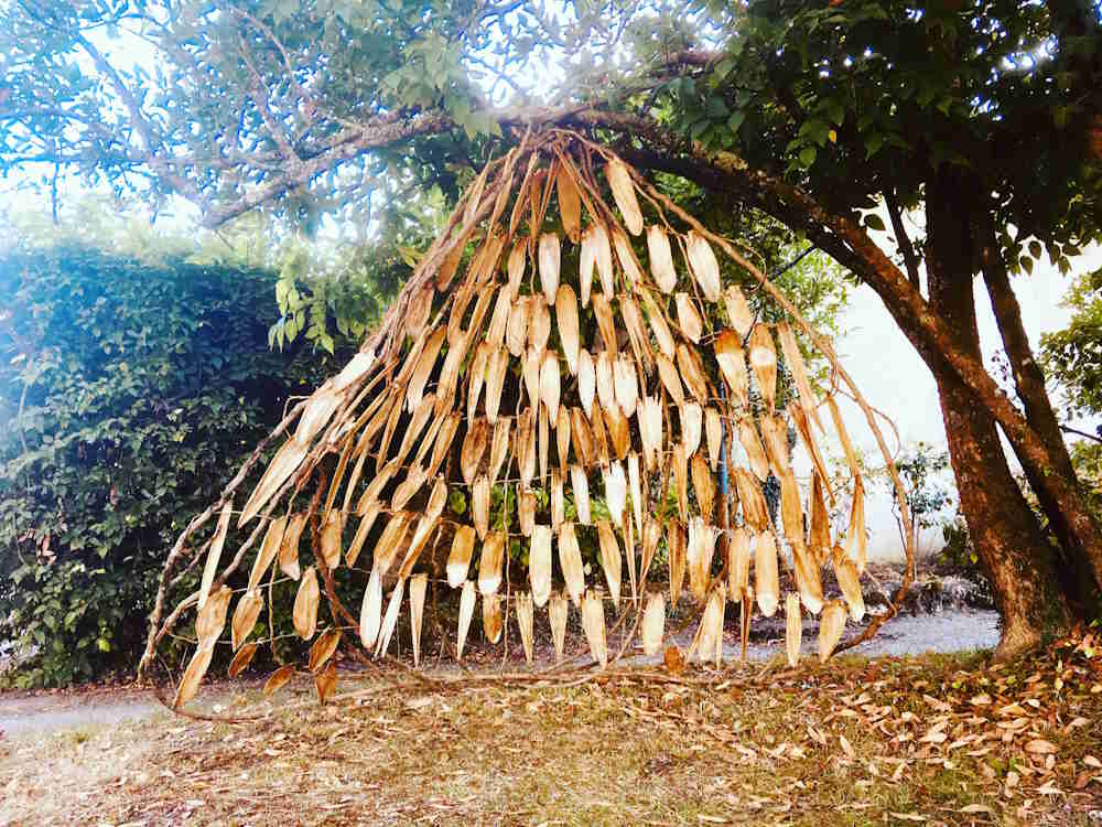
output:
[[[1067,268],[1100,235],[1102,35],[1083,0],[22,0],[2,22],[6,169],[43,164],[47,184],[64,171],[120,186],[141,176],[210,225],[258,207],[354,214],[382,178],[447,193],[464,165],[544,123],[617,141],[720,208],[760,208],[876,290],[933,372],[1004,613],[1002,653],[1096,611],[1102,536],[1009,287],[1045,254]],[[160,74],[112,60],[105,28],[153,44]],[[532,105],[545,78],[533,66],[553,60],[569,86]],[[515,105],[493,106],[506,88]],[[882,201],[898,264],[874,240],[875,216],[861,217]],[[925,238],[908,238],[908,210],[925,212]],[[977,276],[1018,405],[980,358]]]

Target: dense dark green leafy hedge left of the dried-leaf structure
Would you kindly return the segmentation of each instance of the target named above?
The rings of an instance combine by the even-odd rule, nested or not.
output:
[[[0,643],[21,658],[9,681],[131,670],[176,534],[288,397],[334,370],[302,346],[269,348],[274,283],[72,245],[0,258]]]

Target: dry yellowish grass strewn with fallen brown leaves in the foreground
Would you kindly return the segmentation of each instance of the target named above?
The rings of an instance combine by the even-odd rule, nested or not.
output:
[[[1070,646],[1013,667],[636,672],[327,707],[305,678],[284,691],[304,704],[259,723],[0,741],[0,821],[1102,824],[1102,655]]]

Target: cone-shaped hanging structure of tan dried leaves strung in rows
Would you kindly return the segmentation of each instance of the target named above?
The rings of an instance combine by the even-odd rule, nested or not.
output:
[[[756,319],[738,286],[722,283],[716,247],[791,324]],[[713,330],[716,319],[725,322]],[[648,582],[658,559],[667,563],[670,602],[688,581],[702,606],[692,647],[701,659],[721,658],[728,601],[745,621],[752,603],[773,615],[782,598],[789,658],[799,656],[806,610],[822,612],[825,659],[846,615],[865,613],[864,487],[834,395],[817,396],[791,325],[829,359],[834,390],[857,400],[890,465],[871,409],[829,343],[727,241],[606,148],[562,130],[526,137],[482,171],[361,352],[273,433],[281,439],[296,422],[240,511],[233,495],[244,470],[177,541],[165,580],[183,557],[205,550],[202,586],[162,622],[162,582],[148,649],[196,609],[197,647],[176,705],[194,696],[227,617],[230,673],[252,658],[259,642],[247,638],[263,609],[262,581],[277,570],[299,581],[294,627],[315,640],[309,666],[323,699],[335,681],[329,658],[341,627],[358,630],[367,653],[385,654],[407,591],[418,663],[423,558],[433,547],[447,555],[447,584],[462,589],[458,657],[479,599],[486,638],[496,643],[512,612],[529,662],[536,610],[547,609],[561,657],[571,604],[602,666],[624,654],[636,630],[645,652],[657,653],[667,605]],[[781,365],[795,388],[786,405]],[[852,475],[834,488],[820,448],[828,418]],[[790,425],[811,459],[807,491],[793,473]],[[781,491],[776,522],[761,488],[770,474]],[[313,498],[304,503],[307,491]],[[463,507],[453,506],[456,492]],[[844,495],[852,497],[849,528],[832,537],[828,503]],[[187,551],[218,509],[209,543]],[[257,524],[224,565],[235,516],[238,526]],[[313,554],[303,566],[304,534]],[[258,540],[230,616],[227,577]],[[527,577],[514,592],[519,578],[508,567],[523,559],[510,555],[518,544]],[[583,545],[599,560],[588,579]],[[782,595],[786,547],[797,592]],[[372,559],[356,613],[338,600],[333,571],[354,567],[365,551]],[[824,601],[823,566],[833,568],[844,600]],[[323,592],[334,624],[318,635]],[[606,602],[627,604],[617,623],[635,616],[612,656]],[[269,688],[293,669],[277,673]]]

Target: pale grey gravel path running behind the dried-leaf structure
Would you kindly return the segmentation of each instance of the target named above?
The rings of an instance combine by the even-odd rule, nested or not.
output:
[[[849,632],[849,630],[847,630]],[[690,635],[691,636],[691,635]],[[730,638],[730,635],[727,635]],[[687,644],[688,642],[679,641]],[[854,654],[919,655],[926,652],[965,652],[993,648],[998,643],[998,615],[991,611],[946,611],[940,614],[896,617]],[[803,653],[814,656],[815,636],[810,622],[803,632]],[[765,659],[784,651],[784,642],[754,643],[753,659]],[[737,642],[724,646],[724,657],[737,658]],[[633,662],[642,662],[642,658]],[[210,709],[226,701],[233,686],[204,691],[202,708]],[[43,734],[60,730],[83,729],[126,721],[140,721],[168,711],[149,691],[57,694],[31,697],[0,695],[0,733],[4,737]]]

